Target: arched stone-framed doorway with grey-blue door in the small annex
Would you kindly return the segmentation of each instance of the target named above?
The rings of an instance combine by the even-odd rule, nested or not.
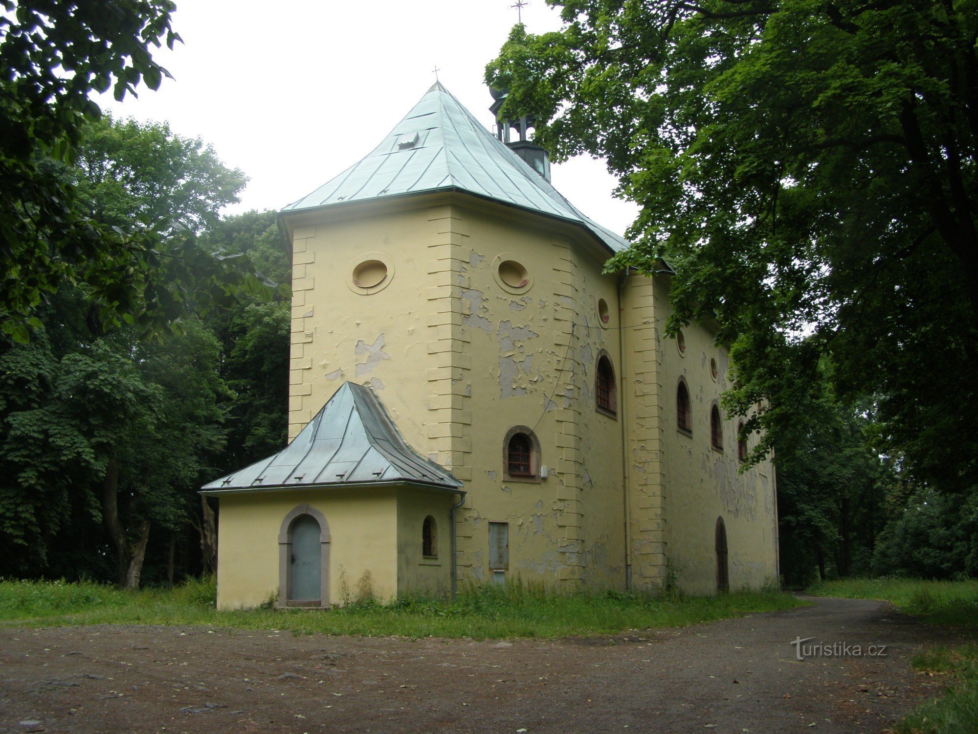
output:
[[[299,505],[279,533],[279,603],[284,607],[329,604],[330,528],[323,514]]]

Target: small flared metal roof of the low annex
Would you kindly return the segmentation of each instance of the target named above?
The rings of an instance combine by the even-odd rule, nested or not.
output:
[[[391,483],[453,490],[462,486],[408,445],[374,390],[344,383],[279,453],[204,484],[200,491]]]

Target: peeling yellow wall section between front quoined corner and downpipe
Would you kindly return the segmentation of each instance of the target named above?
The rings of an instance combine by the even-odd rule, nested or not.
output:
[[[460,476],[459,573],[489,578],[489,523],[508,523],[510,576],[548,585],[624,586],[620,427],[594,410],[600,347],[616,359],[617,333],[598,328],[597,298],[617,320],[614,276],[595,245],[553,221],[512,209],[456,206],[463,237],[459,354],[466,452]],[[507,288],[499,263],[515,259],[526,288]],[[539,482],[507,479],[504,440],[535,429]],[[585,447],[593,448],[586,456]]]

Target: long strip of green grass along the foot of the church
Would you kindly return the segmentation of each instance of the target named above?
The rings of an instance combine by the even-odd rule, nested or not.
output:
[[[609,592],[558,594],[511,583],[472,586],[453,600],[425,597],[389,605],[352,604],[329,612],[256,609],[218,612],[212,581],[172,590],[122,591],[96,583],[0,581],[0,623],[211,624],[294,634],[404,637],[567,637],[683,626],[800,606],[778,591],[712,597],[650,597]]]

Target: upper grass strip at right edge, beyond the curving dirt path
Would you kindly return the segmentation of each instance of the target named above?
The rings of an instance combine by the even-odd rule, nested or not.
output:
[[[978,579],[924,581],[913,578],[842,578],[808,589],[815,596],[885,599],[929,624],[978,629]]]

